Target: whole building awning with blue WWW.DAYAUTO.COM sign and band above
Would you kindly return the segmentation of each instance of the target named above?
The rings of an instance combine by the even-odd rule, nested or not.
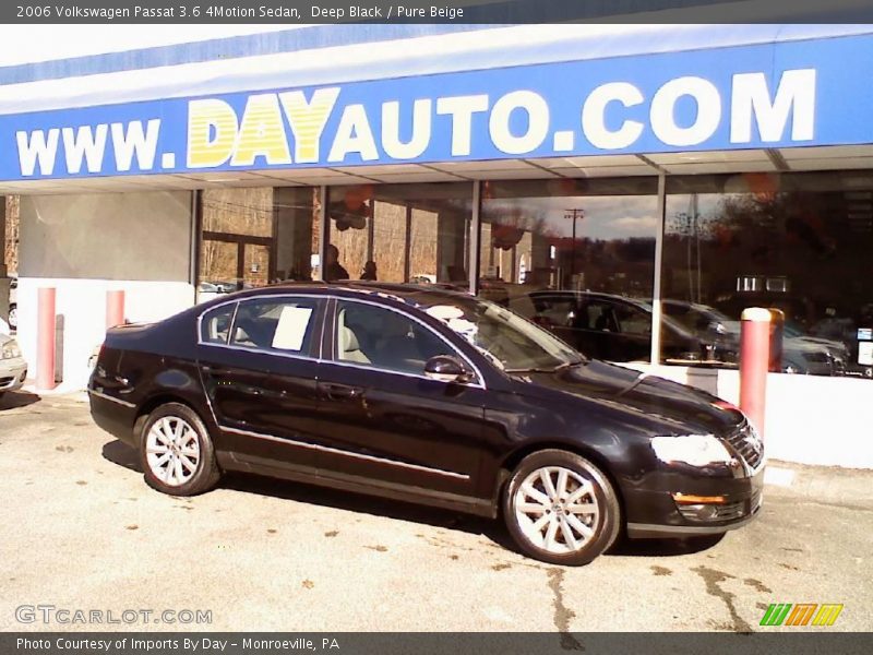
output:
[[[120,178],[199,188],[766,171],[791,169],[788,150],[828,147],[869,160],[873,26],[438,32],[318,47],[300,36],[307,48],[282,53],[0,86],[0,182],[60,192]],[[696,158],[669,159],[682,156]]]

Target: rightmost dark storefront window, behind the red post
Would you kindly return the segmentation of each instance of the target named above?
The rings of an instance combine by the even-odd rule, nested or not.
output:
[[[785,315],[770,370],[873,377],[873,172],[668,177],[667,193],[662,361],[737,366],[740,314],[765,307]]]

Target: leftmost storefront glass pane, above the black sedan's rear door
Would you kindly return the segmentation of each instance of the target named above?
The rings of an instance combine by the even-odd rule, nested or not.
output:
[[[200,213],[198,301],[283,279],[311,279],[315,189],[207,190]]]

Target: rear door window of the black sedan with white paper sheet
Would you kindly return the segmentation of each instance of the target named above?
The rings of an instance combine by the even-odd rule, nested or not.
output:
[[[309,354],[318,300],[261,298],[239,303],[230,344],[261,350]]]

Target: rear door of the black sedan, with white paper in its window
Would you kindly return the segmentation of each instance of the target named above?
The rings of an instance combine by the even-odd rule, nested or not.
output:
[[[325,301],[261,296],[201,319],[199,367],[215,420],[238,458],[314,469],[316,378]],[[230,311],[230,313],[228,313]]]

